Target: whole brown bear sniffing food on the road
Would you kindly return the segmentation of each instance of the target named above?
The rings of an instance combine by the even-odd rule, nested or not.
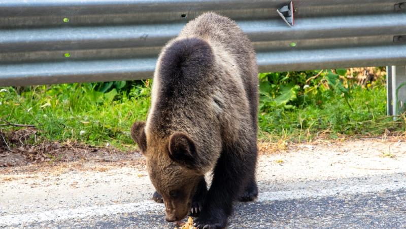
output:
[[[167,221],[189,214],[197,228],[223,228],[233,201],[257,197],[257,75],[248,37],[215,13],[188,22],[162,49],[147,122],[134,123],[131,136]]]

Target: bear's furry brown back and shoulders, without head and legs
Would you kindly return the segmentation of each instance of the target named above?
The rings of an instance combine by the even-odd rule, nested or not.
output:
[[[242,129],[256,136],[257,85],[255,52],[246,34],[226,17],[203,14],[158,58],[147,135],[165,139],[186,132],[202,145],[219,145],[241,136]]]

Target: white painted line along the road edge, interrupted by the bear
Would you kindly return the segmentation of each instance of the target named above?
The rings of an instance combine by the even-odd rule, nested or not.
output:
[[[296,189],[288,191],[260,193],[257,202],[302,198],[321,198],[337,195],[354,195],[361,193],[376,193],[384,190],[398,190],[402,188],[406,188],[406,181],[381,183],[377,185],[341,186],[321,190]],[[80,207],[76,209],[55,209],[43,212],[0,216],[0,226],[11,226],[44,221],[61,221],[72,218],[86,218],[132,212],[142,213],[149,211],[156,211],[157,213],[163,215],[164,207],[162,204],[158,204],[153,201],[145,201],[129,204]]]

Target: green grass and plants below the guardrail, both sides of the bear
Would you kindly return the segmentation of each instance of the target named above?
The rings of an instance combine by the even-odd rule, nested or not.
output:
[[[263,142],[406,132],[404,115],[386,116],[384,68],[260,73],[259,79],[258,136]],[[42,140],[133,150],[129,128],[146,119],[151,83],[0,88],[0,131],[27,128],[14,124],[32,125]],[[28,141],[38,143],[38,139]]]

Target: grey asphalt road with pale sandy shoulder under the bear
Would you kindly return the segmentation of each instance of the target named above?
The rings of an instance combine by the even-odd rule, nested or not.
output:
[[[261,156],[259,198],[236,203],[228,227],[406,228],[406,145],[386,143],[386,155],[388,145],[393,157],[377,145],[368,152],[304,145]],[[143,166],[63,168],[2,173],[0,227],[174,227],[163,205],[149,200]]]

